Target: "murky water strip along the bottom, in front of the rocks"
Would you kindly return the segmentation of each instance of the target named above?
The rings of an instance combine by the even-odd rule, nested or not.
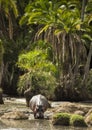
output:
[[[92,128],[53,126],[49,120],[2,120],[0,130],[92,130]]]

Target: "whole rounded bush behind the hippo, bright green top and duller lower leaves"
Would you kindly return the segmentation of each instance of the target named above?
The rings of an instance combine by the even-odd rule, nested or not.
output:
[[[49,60],[47,48],[41,45],[42,43],[38,47],[33,47],[31,51],[19,55],[17,65],[25,74],[20,76],[18,90],[22,92],[30,84],[35,93],[52,97],[56,86],[57,68]]]

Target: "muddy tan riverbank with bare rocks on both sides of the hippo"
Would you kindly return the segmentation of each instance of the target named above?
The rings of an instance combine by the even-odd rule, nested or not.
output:
[[[50,102],[50,103],[51,108],[49,108],[45,112],[45,120],[44,120],[45,122],[49,121],[50,124],[52,116],[55,113],[67,112],[67,113],[81,114],[85,116],[92,108],[92,103],[87,102],[86,103]],[[4,98],[4,104],[0,105],[0,117],[1,117],[0,121],[6,125],[8,124],[8,126],[14,122],[16,122],[16,124],[19,124],[20,122],[24,122],[24,124],[27,124],[30,121],[37,122],[37,120],[35,120],[33,117],[33,112],[31,111],[31,109],[29,107],[26,107],[26,100],[24,98],[10,98],[10,97]],[[21,126],[22,124],[20,123],[19,125]],[[89,128],[87,130],[89,130]]]

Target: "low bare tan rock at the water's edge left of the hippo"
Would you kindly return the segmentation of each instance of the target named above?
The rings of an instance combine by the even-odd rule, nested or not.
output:
[[[20,111],[13,111],[4,113],[3,116],[1,116],[1,119],[14,119],[14,120],[22,120],[22,119],[28,119],[28,116]]]

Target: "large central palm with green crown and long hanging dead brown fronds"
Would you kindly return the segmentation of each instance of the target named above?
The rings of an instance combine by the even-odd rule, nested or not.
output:
[[[87,65],[90,63],[90,60],[87,60],[86,48],[82,40],[86,5],[86,0],[82,3],[80,0],[35,1],[26,7],[25,15],[20,21],[20,24],[27,22],[39,25],[35,39],[43,38],[52,43],[53,62],[57,62],[59,69],[59,83],[65,88],[70,88],[71,93],[77,91],[78,86],[84,85],[77,83],[82,83],[84,75],[87,74],[84,68],[89,68]],[[91,59],[91,52],[88,57]],[[82,74],[81,67],[84,72]]]

